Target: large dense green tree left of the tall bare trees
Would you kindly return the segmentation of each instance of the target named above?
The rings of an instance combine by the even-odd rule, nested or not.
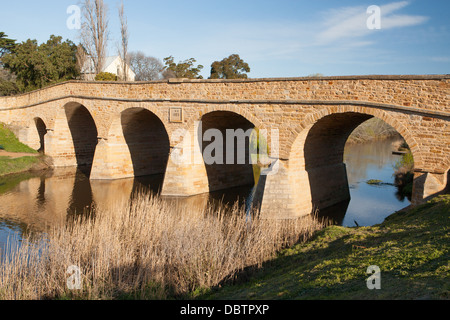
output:
[[[50,36],[41,45],[30,40],[16,45],[14,52],[4,55],[5,69],[17,77],[17,87],[21,92],[76,79],[79,75],[76,61],[77,47],[62,37]]]

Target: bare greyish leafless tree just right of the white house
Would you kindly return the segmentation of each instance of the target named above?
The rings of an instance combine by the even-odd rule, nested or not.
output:
[[[161,60],[146,56],[142,51],[130,52],[127,60],[136,74],[136,81],[152,81],[162,78],[164,65]]]

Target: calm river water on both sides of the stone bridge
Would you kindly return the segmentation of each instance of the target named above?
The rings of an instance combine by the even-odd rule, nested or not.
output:
[[[335,224],[353,227],[383,222],[393,212],[410,203],[398,195],[393,185],[393,165],[399,156],[392,154],[394,140],[347,145],[345,163],[351,200],[330,208],[321,215],[331,217]],[[19,174],[0,178],[0,250],[8,241],[20,241],[29,233],[39,233],[48,226],[64,223],[68,216],[114,206],[127,201],[136,191],[157,193],[162,175],[117,181],[90,181],[75,168],[51,173]],[[367,180],[383,181],[369,185]],[[240,187],[187,199],[187,205],[204,207],[220,202],[245,204],[252,187]],[[3,250],[2,250],[3,251]],[[1,255],[1,254],[0,254]]]

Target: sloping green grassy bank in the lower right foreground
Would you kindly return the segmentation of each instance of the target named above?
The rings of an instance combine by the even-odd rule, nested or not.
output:
[[[450,196],[365,228],[332,226],[200,299],[449,299]],[[381,289],[367,288],[369,266]]]

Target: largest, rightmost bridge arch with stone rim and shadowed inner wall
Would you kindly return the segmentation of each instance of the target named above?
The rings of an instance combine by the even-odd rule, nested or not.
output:
[[[416,166],[420,150],[408,129],[386,112],[357,107],[326,108],[308,115],[290,148],[291,183],[298,206],[324,209],[350,199],[344,149],[351,133],[376,117],[392,126],[411,147]],[[301,190],[295,186],[302,186]]]

